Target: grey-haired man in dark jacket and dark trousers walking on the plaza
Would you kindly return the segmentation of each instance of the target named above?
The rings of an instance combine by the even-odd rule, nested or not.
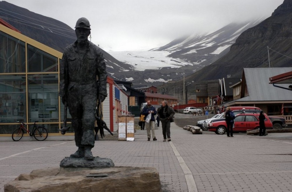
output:
[[[173,116],[175,114],[172,107],[169,107],[167,105],[166,101],[162,101],[161,107],[157,110],[158,117],[161,121],[162,126],[162,134],[163,134],[163,141],[171,141],[170,139],[170,123],[171,119],[173,119]]]

